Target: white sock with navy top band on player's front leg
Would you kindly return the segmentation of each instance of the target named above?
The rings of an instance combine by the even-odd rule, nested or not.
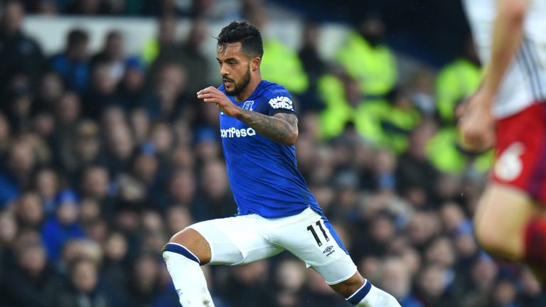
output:
[[[183,307],[214,307],[196,255],[180,244],[168,243],[163,259]]]

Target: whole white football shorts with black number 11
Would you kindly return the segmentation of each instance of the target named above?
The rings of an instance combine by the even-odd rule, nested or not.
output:
[[[286,249],[321,274],[327,284],[338,284],[356,273],[330,222],[311,208],[290,217],[238,215],[189,227],[210,244],[209,264],[247,264]]]

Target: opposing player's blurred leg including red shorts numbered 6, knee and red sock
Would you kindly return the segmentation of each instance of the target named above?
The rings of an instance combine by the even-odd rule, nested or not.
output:
[[[546,104],[498,119],[496,163],[474,218],[484,249],[546,281]]]

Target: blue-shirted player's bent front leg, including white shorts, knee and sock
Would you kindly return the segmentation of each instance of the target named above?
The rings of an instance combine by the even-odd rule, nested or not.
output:
[[[245,264],[282,252],[255,221],[241,216],[199,222],[171,238],[163,255],[183,307],[214,306],[200,265]]]

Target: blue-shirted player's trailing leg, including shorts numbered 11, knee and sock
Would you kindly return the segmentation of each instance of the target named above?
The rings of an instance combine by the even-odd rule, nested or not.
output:
[[[396,298],[357,271],[330,222],[311,209],[274,222],[272,241],[302,259],[331,288],[355,306],[399,307]]]

